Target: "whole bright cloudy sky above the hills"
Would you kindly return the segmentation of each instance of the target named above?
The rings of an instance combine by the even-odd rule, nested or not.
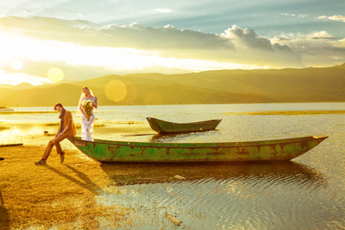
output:
[[[0,84],[345,63],[344,0],[0,0]]]

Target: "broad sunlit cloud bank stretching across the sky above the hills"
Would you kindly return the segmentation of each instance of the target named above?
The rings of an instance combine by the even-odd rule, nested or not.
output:
[[[345,62],[344,39],[327,31],[266,38],[237,25],[217,35],[169,24],[157,28],[137,22],[101,26],[83,20],[2,17],[0,38],[0,63],[5,63],[6,58],[22,61],[24,57],[31,60],[30,66],[38,62],[50,67],[58,64],[69,79],[150,71],[171,74],[222,68],[333,66]],[[39,66],[25,72],[28,61],[22,63],[22,73],[39,75],[35,74]],[[13,65],[8,62],[0,68],[11,71]],[[81,69],[87,71],[74,76]],[[46,76],[46,72],[40,76]]]

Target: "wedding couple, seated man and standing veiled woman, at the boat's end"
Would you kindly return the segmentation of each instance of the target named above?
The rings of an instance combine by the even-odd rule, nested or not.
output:
[[[83,102],[91,101],[92,109],[97,109],[97,97],[93,96],[92,91],[88,87],[84,87],[82,90],[82,96],[80,97],[78,109],[82,112],[82,139],[93,141],[93,122],[95,120],[93,110],[91,116],[87,115],[84,111]],[[54,111],[58,111],[60,115],[60,125],[57,129],[57,135],[49,141],[46,151],[44,152],[42,159],[35,162],[35,164],[46,164],[46,161],[50,155],[50,152],[54,146],[57,148],[57,154],[60,155],[60,163],[64,163],[65,152],[62,151],[60,142],[68,137],[75,137],[75,123],[73,122],[72,112],[66,111],[61,103],[57,103],[54,106]]]

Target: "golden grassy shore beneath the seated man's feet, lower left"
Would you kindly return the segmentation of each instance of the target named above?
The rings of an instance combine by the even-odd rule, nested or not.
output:
[[[112,227],[130,226],[128,208],[96,202],[102,192],[117,192],[100,163],[66,151],[66,164],[60,164],[54,149],[48,164],[35,165],[44,149],[0,148],[0,229],[98,229],[101,219]]]

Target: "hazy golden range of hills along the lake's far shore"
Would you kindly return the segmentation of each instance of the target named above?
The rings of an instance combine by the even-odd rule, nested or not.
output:
[[[52,106],[57,102],[76,106],[84,86],[93,90],[100,105],[345,102],[345,64],[182,75],[106,75],[22,90],[2,89],[0,96],[8,106]]]

